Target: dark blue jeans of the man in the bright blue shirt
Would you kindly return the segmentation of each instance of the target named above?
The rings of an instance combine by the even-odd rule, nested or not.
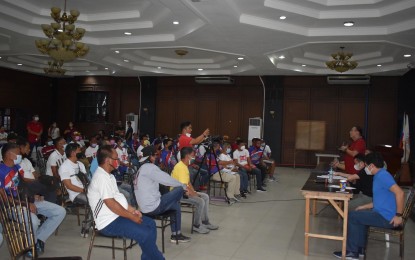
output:
[[[347,251],[357,253],[359,248],[366,247],[367,229],[369,226],[393,228],[379,213],[373,210],[349,212],[347,225]]]

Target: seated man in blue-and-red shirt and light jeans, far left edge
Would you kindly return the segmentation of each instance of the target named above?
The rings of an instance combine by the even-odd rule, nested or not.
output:
[[[23,175],[20,168],[21,162],[20,149],[17,144],[5,144],[2,149],[3,163],[0,163],[0,188],[12,188],[19,186],[19,179]],[[20,177],[19,177],[20,175]],[[12,192],[8,194],[13,199]],[[33,233],[36,241],[37,253],[42,253],[45,249],[46,240],[55,232],[56,228],[65,218],[66,211],[61,206],[44,201],[40,196],[30,198],[29,208],[33,225]],[[37,214],[46,217],[45,222],[40,225]],[[24,216],[27,218],[27,216]],[[32,252],[27,256],[32,257]]]

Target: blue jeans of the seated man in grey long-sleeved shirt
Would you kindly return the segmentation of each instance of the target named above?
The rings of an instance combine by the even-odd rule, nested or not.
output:
[[[174,224],[170,225],[171,232],[177,234],[181,230],[182,211],[180,200],[183,198],[183,187],[175,187],[170,192],[163,194],[160,198],[159,206],[152,212],[145,213],[147,215],[159,215],[167,210],[175,210]]]

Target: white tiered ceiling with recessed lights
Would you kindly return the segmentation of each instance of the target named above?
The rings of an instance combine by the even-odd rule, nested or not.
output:
[[[34,41],[63,5],[0,0],[0,67],[42,74],[48,59]],[[68,0],[67,9],[81,12],[90,47],[67,75],[326,75],[341,46],[359,63],[346,74],[402,75],[415,64],[415,0]]]

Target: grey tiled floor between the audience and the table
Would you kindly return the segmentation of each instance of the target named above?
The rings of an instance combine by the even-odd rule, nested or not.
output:
[[[166,259],[200,260],[268,260],[268,259],[335,259],[331,254],[341,248],[332,240],[310,239],[310,254],[304,256],[304,198],[300,188],[308,178],[308,170],[278,168],[279,182],[268,184],[268,192],[253,192],[243,203],[227,206],[223,202],[210,205],[211,222],[220,229],[210,234],[192,234],[187,244],[172,244],[166,239]],[[341,221],[331,208],[319,206],[319,215],[312,218],[312,230],[341,232]],[[183,215],[183,233],[190,235],[190,214]],[[79,255],[86,259],[89,238],[80,238],[76,217],[68,215],[59,235],[49,238],[44,256]],[[406,226],[406,259],[415,259],[415,224]],[[157,244],[161,248],[158,231]],[[166,231],[170,236],[170,231]],[[101,240],[101,239],[100,239]],[[102,239],[110,243],[109,239]],[[386,248],[385,243],[369,242],[367,259],[399,259],[397,245]],[[128,259],[140,259],[139,247],[128,251]],[[7,245],[0,248],[0,259],[8,259]],[[91,259],[111,259],[111,251],[95,248]],[[116,259],[122,252],[116,251]]]

